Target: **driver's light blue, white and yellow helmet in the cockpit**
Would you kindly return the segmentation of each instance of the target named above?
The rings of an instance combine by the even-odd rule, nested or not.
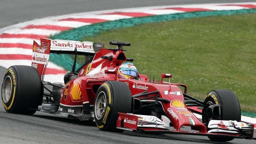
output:
[[[137,77],[138,70],[133,63],[122,63],[117,71],[117,76],[120,79],[131,79]]]

